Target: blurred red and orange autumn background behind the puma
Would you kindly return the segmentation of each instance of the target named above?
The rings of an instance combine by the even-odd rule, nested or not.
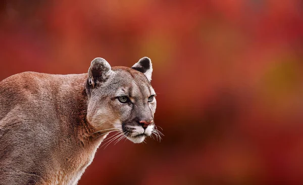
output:
[[[99,148],[79,184],[303,184],[303,2],[1,1],[0,80],[153,61],[161,143]]]

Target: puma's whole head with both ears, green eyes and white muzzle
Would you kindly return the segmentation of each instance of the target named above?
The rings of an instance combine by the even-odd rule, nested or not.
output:
[[[152,72],[147,57],[131,68],[111,68],[104,59],[94,59],[88,71],[87,85],[90,123],[97,130],[118,131],[113,137],[117,140],[126,137],[133,143],[143,142],[155,130],[157,102],[155,90],[150,85]]]

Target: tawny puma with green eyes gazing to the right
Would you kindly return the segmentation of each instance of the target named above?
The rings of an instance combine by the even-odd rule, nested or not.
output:
[[[147,57],[131,68],[96,58],[85,74],[1,81],[0,184],[77,184],[110,132],[115,142],[160,136],[152,71]]]

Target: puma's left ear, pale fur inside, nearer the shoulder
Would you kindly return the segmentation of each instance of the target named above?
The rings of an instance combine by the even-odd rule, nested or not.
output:
[[[111,65],[103,58],[95,58],[88,69],[88,84],[93,87],[104,82],[112,71]]]

